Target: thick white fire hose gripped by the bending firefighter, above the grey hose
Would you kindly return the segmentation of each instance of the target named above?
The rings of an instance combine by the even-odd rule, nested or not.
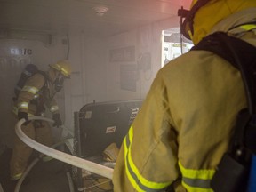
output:
[[[48,121],[50,123],[53,123],[54,121],[49,118],[45,118],[42,116],[31,116],[29,117],[29,120],[44,120]],[[21,124],[25,123],[25,119],[20,119],[20,121],[15,125],[15,131],[20,140],[22,140],[24,143],[26,143],[29,147],[36,149],[37,151],[43,153],[46,156],[52,156],[52,158],[58,159],[62,162],[65,162],[67,164],[71,164],[73,166],[76,166],[78,168],[87,170],[89,172],[96,173],[98,175],[101,175],[105,178],[108,178],[112,180],[113,176],[113,169],[109,168],[107,166],[96,164],[91,161],[87,161],[83,158],[79,158],[77,156],[71,156],[69,154],[63,153],[59,150],[46,147],[42,145],[41,143],[36,142],[35,140],[30,139],[24,132],[21,130]]]

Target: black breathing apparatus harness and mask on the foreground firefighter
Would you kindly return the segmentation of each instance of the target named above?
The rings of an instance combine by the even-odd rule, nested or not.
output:
[[[189,12],[183,8],[178,11],[183,36],[189,39],[193,35],[193,18],[198,9],[209,1],[198,0]],[[236,116],[228,152],[222,156],[212,178],[211,188],[216,192],[255,191],[252,180],[255,180],[256,174],[256,47],[226,33],[217,32],[204,37],[191,50],[213,52],[240,70],[248,103],[248,108],[242,109]]]

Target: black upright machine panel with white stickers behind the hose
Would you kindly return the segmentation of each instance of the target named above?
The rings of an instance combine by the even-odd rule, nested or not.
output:
[[[102,162],[102,152],[111,143],[121,147],[141,104],[142,100],[93,102],[75,112],[74,155]],[[81,169],[73,168],[73,179],[76,188],[83,188]]]

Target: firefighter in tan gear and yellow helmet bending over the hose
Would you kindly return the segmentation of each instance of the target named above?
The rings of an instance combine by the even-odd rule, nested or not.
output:
[[[38,71],[29,77],[15,100],[14,113],[18,119],[24,118],[22,131],[33,140],[46,146],[52,146],[52,132],[45,121],[28,121],[28,116],[44,116],[45,107],[52,112],[53,126],[59,127],[62,122],[54,95],[60,92],[63,81],[71,74],[68,60],[50,64],[47,72]],[[33,149],[28,147],[15,135],[10,163],[11,180],[19,180],[28,165],[28,158]]]

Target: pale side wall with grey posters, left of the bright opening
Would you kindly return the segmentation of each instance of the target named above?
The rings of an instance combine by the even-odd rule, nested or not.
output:
[[[108,39],[109,100],[134,100],[145,98],[148,89],[156,76],[156,72],[161,68],[162,30],[173,28],[174,26],[177,27],[178,24],[179,22],[177,18],[163,20],[148,26],[136,28],[124,34],[112,36]],[[135,51],[134,59],[132,58],[129,61],[125,60],[126,58],[124,56],[125,48],[127,47],[132,47]],[[113,52],[116,52],[117,61],[111,59],[111,57],[113,57]],[[129,51],[127,52],[126,53],[129,54]],[[147,60],[147,57],[149,60]],[[127,71],[127,73],[125,73],[122,68],[128,68],[127,70],[130,68],[132,70],[134,66],[137,67],[137,70],[132,71],[133,74],[131,74],[131,76],[133,77],[133,81],[130,76],[130,84],[128,82],[126,85],[127,88],[125,87],[125,84],[122,84],[122,80],[125,79],[125,76],[129,76],[127,73],[132,72]],[[132,87],[134,82],[136,84],[135,88]],[[129,89],[129,85],[132,89]]]

